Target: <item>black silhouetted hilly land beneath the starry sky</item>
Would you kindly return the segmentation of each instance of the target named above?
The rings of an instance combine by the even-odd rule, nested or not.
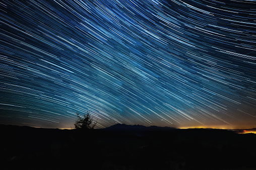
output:
[[[0,169],[256,169],[256,134],[116,124],[0,125]]]

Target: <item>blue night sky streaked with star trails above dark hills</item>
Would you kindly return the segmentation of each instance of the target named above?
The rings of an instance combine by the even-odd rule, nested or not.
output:
[[[256,127],[255,1],[0,6],[0,124]]]

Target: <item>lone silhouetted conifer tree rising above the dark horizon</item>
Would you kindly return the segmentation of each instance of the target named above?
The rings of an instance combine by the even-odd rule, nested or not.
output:
[[[93,124],[91,126],[91,124]],[[91,118],[90,112],[87,111],[87,115],[84,115],[84,117],[80,116],[80,113],[77,112],[77,120],[75,123],[76,129],[93,129],[97,124],[96,122],[93,122],[93,118]]]

